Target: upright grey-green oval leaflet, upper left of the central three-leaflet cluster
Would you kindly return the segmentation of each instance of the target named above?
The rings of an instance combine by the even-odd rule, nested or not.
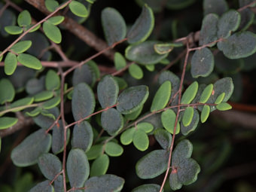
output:
[[[102,108],[116,104],[119,87],[111,75],[105,75],[97,86],[97,96]]]

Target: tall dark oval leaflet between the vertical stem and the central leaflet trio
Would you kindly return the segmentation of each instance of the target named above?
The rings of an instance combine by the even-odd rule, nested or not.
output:
[[[95,97],[93,90],[81,83],[75,86],[72,96],[72,113],[75,120],[81,120],[92,114],[95,108]]]

